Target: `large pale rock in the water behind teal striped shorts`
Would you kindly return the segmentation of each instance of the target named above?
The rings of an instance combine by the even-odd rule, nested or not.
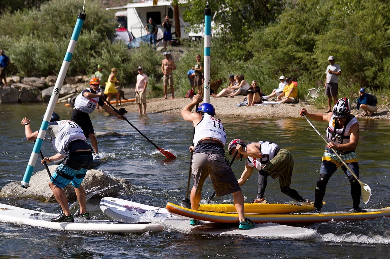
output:
[[[57,165],[49,166],[51,174],[57,168]],[[49,176],[46,170],[42,170],[33,175],[30,179],[30,187],[27,189],[20,187],[20,182],[11,182],[4,186],[0,191],[0,197],[20,197],[34,198],[47,202],[57,202],[51,189],[49,188]],[[99,170],[88,170],[87,175],[82,182],[87,196],[96,193],[93,197],[118,196],[119,193],[129,193],[133,186],[125,179],[116,179],[105,175]],[[68,202],[76,200],[73,186],[68,184],[65,189]]]

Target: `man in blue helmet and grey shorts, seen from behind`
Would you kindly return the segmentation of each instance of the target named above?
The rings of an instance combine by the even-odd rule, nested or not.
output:
[[[233,194],[234,207],[239,217],[238,229],[250,229],[255,223],[244,216],[244,197],[236,176],[226,163],[223,147],[226,142],[226,132],[220,120],[216,119],[215,108],[210,103],[203,103],[197,112],[191,112],[197,103],[203,101],[202,95],[195,94],[190,104],[183,108],[181,116],[185,121],[192,122],[195,127],[191,147],[193,158],[191,169],[194,185],[191,189],[191,209],[198,210],[204,181],[210,175],[217,197]],[[190,225],[198,225],[196,219],[190,220]]]

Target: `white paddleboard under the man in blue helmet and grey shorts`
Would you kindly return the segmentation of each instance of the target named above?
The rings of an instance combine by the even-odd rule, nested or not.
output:
[[[158,222],[167,230],[200,235],[244,235],[259,238],[279,238],[308,240],[318,236],[317,231],[307,228],[284,226],[273,223],[257,224],[248,230],[239,230],[238,224],[216,224],[200,221],[199,226],[191,226],[188,219],[170,214],[166,208],[159,208],[133,201],[105,197],[100,201],[100,209],[105,215],[120,221],[148,220]],[[150,210],[149,210],[150,209]],[[152,218],[152,219],[151,219]]]

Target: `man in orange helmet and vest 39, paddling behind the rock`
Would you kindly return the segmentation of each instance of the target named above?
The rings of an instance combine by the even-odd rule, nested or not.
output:
[[[92,113],[96,109],[97,104],[99,104],[109,114],[116,116],[119,119],[123,119],[121,115],[117,114],[111,107],[108,107],[103,99],[100,98],[102,93],[97,93],[99,84],[100,82],[97,78],[92,78],[89,81],[89,88],[84,89],[76,97],[76,100],[74,100],[74,108],[71,117],[71,120],[82,128],[85,137],[91,139],[91,144],[95,152],[94,159],[100,159],[100,156],[97,150],[94,127],[92,126],[89,114]]]

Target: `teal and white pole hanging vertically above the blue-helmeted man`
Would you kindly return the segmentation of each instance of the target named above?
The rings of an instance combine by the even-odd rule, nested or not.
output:
[[[207,1],[204,9],[204,81],[203,102],[210,103],[210,49],[211,49],[211,9]]]

